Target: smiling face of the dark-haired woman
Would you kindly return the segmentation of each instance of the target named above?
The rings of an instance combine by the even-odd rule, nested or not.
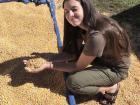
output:
[[[84,11],[82,5],[76,0],[67,0],[64,3],[64,14],[67,21],[74,27],[82,25]]]

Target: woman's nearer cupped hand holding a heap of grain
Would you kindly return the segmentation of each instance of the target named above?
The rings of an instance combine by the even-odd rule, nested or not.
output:
[[[27,60],[23,60],[23,63],[26,65],[27,64]],[[25,70],[29,73],[38,73],[38,72],[41,72],[45,69],[51,69],[51,65],[52,65],[52,62],[47,62],[47,63],[44,63],[43,65],[41,65],[39,68],[29,68],[29,67],[25,67]]]

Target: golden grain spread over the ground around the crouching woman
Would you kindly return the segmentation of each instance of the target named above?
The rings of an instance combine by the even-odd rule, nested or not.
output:
[[[57,9],[56,14],[62,37],[62,8]],[[0,23],[0,105],[68,105],[61,72],[30,74],[25,72],[22,62],[25,59],[47,60],[45,54],[57,53],[53,22],[47,5],[0,4]],[[36,56],[32,56],[33,53]],[[121,83],[116,105],[140,103],[140,62],[134,54],[131,58],[130,76]],[[79,105],[98,103],[90,100]]]

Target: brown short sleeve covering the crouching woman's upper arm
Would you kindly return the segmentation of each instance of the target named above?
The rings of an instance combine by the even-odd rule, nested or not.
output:
[[[87,36],[83,53],[88,56],[101,57],[105,48],[105,38],[98,31],[91,31]]]

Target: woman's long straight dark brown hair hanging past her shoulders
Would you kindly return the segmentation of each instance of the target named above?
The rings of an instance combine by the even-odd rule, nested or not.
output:
[[[64,3],[68,0],[64,0]],[[127,33],[119,26],[119,24],[106,16],[96,12],[92,0],[77,0],[84,8],[83,24],[91,30],[100,31],[106,39],[105,49],[111,49],[111,56],[113,58],[120,58],[123,55],[129,56],[130,54],[130,41]],[[63,51],[68,53],[79,54],[77,46],[78,38],[81,38],[83,30],[78,27],[73,27],[64,18],[64,39]],[[82,44],[82,43],[81,43]],[[123,50],[122,50],[123,49]]]

